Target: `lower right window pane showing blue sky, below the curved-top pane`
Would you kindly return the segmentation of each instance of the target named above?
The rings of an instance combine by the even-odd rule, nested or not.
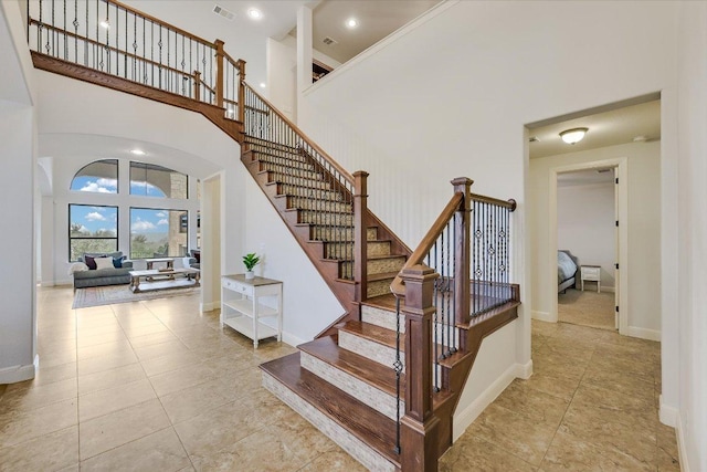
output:
[[[130,208],[130,259],[187,253],[187,211]]]

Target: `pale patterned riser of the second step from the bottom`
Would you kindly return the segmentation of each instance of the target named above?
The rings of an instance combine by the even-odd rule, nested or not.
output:
[[[356,397],[361,400],[366,405],[371,408],[378,410],[379,412],[386,415],[391,420],[395,420],[398,417],[398,411],[395,410],[395,397],[386,394],[382,390],[379,390],[371,385],[357,379],[356,377],[345,373],[341,369],[338,369],[315,356],[310,356],[307,353],[300,354],[302,367],[309,370],[310,373],[321,377],[329,384],[335,387],[340,388],[347,394]],[[390,369],[391,377],[395,376],[395,371]],[[400,400],[400,413],[401,416],[405,412],[405,403],[404,400]]]

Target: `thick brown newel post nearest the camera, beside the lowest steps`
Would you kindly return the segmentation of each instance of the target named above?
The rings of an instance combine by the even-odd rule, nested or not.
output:
[[[437,470],[440,419],[432,412],[432,316],[434,281],[424,264],[402,271],[405,284],[405,416],[401,419],[401,465],[405,472]]]

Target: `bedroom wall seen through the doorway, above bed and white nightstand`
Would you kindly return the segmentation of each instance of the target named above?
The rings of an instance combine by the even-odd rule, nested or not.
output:
[[[557,247],[570,250],[580,264],[601,265],[601,287],[612,292],[616,262],[614,218],[613,182],[558,186]],[[587,286],[595,290],[597,284]]]

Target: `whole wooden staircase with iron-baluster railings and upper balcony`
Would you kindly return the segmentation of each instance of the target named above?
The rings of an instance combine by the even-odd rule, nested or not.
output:
[[[263,386],[370,470],[436,470],[483,339],[517,317],[519,290],[508,283],[515,202],[474,196],[471,180],[455,179],[411,251],[369,211],[368,175],[342,169],[255,93],[223,42],[99,0],[131,19],[116,33],[133,41],[120,49],[78,21],[98,17],[77,14],[71,31],[51,24],[66,1],[30,3],[35,67],[201,113],[239,141],[241,161],[341,303],[344,314],[298,353],[261,366]],[[180,39],[181,55],[167,46],[163,62],[163,43],[146,42],[147,29]]]

